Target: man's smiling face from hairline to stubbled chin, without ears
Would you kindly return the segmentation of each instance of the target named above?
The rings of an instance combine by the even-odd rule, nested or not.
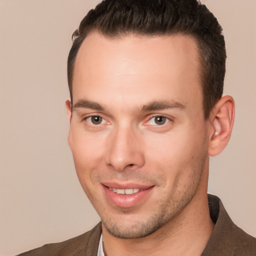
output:
[[[152,233],[198,193],[208,143],[198,61],[185,35],[92,32],[78,51],[68,141],[85,193],[117,237]]]

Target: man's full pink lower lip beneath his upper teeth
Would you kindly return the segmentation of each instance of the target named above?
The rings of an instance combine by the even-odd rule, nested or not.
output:
[[[122,208],[129,208],[143,202],[153,189],[153,186],[138,191],[134,194],[117,194],[104,185],[103,189],[108,201],[110,201],[111,204]]]

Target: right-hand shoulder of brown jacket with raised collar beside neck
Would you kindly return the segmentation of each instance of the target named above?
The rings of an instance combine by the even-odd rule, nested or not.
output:
[[[233,223],[218,197],[209,195],[208,201],[215,227],[202,255],[256,255],[256,238]]]

